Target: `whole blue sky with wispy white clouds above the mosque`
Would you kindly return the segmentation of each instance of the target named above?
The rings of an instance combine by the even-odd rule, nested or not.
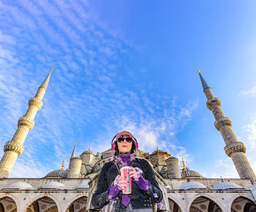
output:
[[[236,178],[200,69],[256,170],[255,1],[0,1],[0,157],[53,68],[11,177],[42,177],[130,130],[208,178]],[[65,168],[68,166],[68,160]]]

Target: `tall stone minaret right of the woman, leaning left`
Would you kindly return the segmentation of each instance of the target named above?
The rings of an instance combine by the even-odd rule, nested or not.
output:
[[[222,138],[225,141],[226,146],[224,147],[224,150],[227,156],[231,157],[233,160],[240,178],[250,178],[252,183],[255,184],[256,176],[245,156],[246,148],[244,144],[238,141],[233,133],[231,121],[223,114],[220,107],[221,103],[219,98],[215,98],[214,93],[211,91],[211,87],[207,85],[206,81],[203,79],[203,76],[200,74],[200,71],[197,71],[203,85],[203,92],[208,100],[206,106],[214,114],[216,119],[214,125],[222,134]]]

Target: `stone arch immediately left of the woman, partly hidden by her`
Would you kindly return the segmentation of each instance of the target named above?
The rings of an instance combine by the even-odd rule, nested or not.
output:
[[[88,197],[85,193],[75,196],[69,205],[67,205],[66,212],[73,212],[79,210],[79,212],[86,211],[86,206],[88,203]]]

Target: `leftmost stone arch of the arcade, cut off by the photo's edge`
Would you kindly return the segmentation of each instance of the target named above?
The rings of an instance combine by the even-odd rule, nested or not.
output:
[[[0,210],[2,211],[18,211],[18,200],[10,194],[0,195]]]

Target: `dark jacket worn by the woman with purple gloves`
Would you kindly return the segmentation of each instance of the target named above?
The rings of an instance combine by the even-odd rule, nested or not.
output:
[[[157,183],[151,165],[144,159],[136,158],[132,167],[138,167],[140,170],[143,170],[143,177],[150,181],[151,189],[157,194],[157,202],[160,203],[162,201],[162,190],[159,188],[159,184]],[[97,189],[92,196],[92,205],[94,205],[94,208],[102,208],[109,203],[108,188],[113,186],[113,181],[117,175],[118,170],[113,162],[107,162],[103,165],[102,170],[99,173]],[[121,204],[121,196],[122,192],[118,195],[115,211],[126,211],[127,209],[126,206]],[[129,198],[133,209],[151,208],[151,200],[156,203],[150,189],[148,189],[147,192],[142,192],[134,182],[132,182],[132,194],[129,195]]]

